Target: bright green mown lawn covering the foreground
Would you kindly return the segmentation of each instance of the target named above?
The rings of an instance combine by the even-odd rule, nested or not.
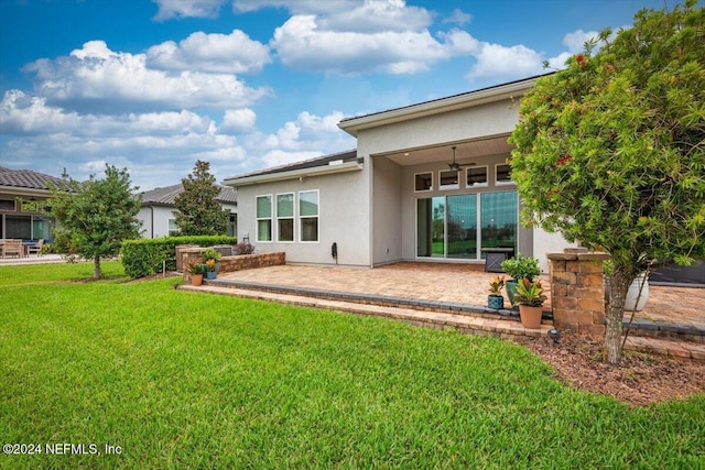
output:
[[[633,409],[494,338],[90,273],[0,267],[0,436],[44,451],[0,468],[705,468],[705,396]]]

